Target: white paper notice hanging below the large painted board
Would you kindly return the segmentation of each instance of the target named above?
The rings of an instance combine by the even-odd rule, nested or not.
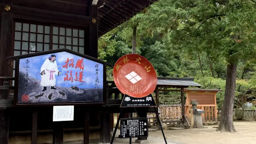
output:
[[[53,106],[53,121],[74,120],[74,105]]]

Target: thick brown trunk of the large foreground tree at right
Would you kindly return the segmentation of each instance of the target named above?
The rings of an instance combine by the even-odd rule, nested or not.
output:
[[[220,125],[216,131],[236,132],[233,124],[233,107],[236,88],[236,64],[230,63],[227,68],[226,88]]]

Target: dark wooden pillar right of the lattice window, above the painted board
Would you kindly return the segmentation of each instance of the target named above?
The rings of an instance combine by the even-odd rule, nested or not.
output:
[[[87,16],[98,18],[98,6],[92,6],[92,0],[88,0]],[[85,54],[98,59],[98,26],[89,24],[85,35]]]

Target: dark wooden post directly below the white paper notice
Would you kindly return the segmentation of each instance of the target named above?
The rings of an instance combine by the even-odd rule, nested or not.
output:
[[[63,144],[64,122],[53,122],[53,144]]]

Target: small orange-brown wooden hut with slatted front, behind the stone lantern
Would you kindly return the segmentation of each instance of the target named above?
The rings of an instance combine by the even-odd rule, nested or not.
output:
[[[192,108],[191,100],[197,100],[197,109],[204,112],[202,114],[203,123],[217,122],[217,102],[216,93],[222,90],[207,90],[207,89],[184,89],[186,93],[185,115],[190,119],[189,111]]]

